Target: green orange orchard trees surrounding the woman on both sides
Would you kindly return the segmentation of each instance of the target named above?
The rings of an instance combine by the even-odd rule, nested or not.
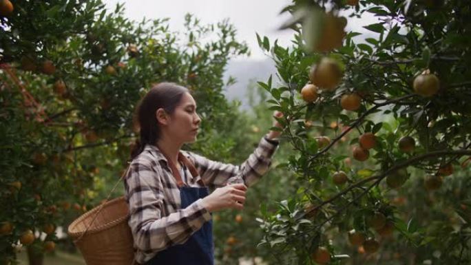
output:
[[[283,12],[293,45],[256,36],[277,72],[250,87],[243,112],[222,93],[228,60],[249,54],[228,21],[187,15],[171,32],[96,0],[0,0],[1,264],[76,253],[61,229],[121,176],[135,104],[160,81],[193,92],[202,133],[187,149],[209,158],[242,162],[284,113],[246,209],[213,215],[218,264],[470,264],[468,3],[293,1]],[[373,35],[346,30],[368,13]]]

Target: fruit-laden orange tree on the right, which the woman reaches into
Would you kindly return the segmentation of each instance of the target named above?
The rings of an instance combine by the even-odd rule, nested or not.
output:
[[[293,1],[280,82],[297,191],[262,206],[280,264],[469,264],[470,14],[463,1]],[[364,32],[350,17],[375,17]],[[273,128],[276,129],[276,128]]]

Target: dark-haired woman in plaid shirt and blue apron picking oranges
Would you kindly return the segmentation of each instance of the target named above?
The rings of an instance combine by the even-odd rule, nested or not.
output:
[[[140,141],[125,176],[125,197],[136,262],[213,264],[211,213],[243,209],[246,185],[268,170],[280,133],[270,131],[240,166],[180,151],[196,139],[201,120],[188,89],[174,83],[152,87],[135,120]]]

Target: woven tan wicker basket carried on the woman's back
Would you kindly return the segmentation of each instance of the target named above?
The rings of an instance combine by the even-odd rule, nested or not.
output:
[[[70,224],[68,233],[87,265],[134,264],[128,218],[129,208],[120,197],[96,206]]]

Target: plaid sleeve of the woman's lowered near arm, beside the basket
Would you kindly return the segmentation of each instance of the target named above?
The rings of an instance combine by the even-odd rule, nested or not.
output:
[[[161,176],[162,172],[137,161],[129,166],[125,177],[125,198],[129,204],[129,226],[134,246],[145,253],[183,244],[211,220],[201,199],[164,216],[165,193]]]

